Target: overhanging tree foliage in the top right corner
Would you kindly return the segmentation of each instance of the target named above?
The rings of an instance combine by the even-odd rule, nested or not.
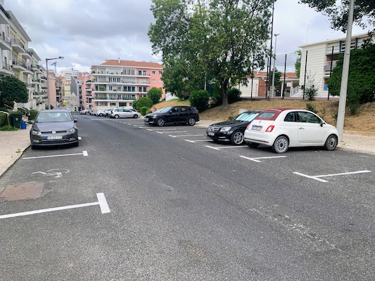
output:
[[[350,0],[300,0],[300,3],[308,4],[315,11],[328,15],[331,25],[335,30],[343,32],[348,28],[348,13]],[[375,1],[355,0],[354,22],[361,27],[372,27],[375,25]]]

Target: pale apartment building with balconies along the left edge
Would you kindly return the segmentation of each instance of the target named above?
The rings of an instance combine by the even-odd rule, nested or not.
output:
[[[23,81],[29,94],[29,102],[15,107],[38,108],[44,103],[42,87],[46,79],[40,58],[37,53],[28,48],[31,41],[27,32],[18,22],[11,11],[4,9],[4,0],[0,0],[0,78],[12,75]]]

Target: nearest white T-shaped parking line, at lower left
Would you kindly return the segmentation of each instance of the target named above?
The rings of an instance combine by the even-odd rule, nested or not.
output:
[[[41,210],[35,210],[35,211],[24,211],[22,213],[2,215],[2,216],[0,216],[0,218],[14,218],[16,216],[29,216],[29,215],[33,215],[33,214],[48,213],[49,211],[61,211],[61,210],[89,207],[89,206],[95,206],[95,205],[99,205],[99,207],[101,208],[101,214],[110,213],[110,209],[109,209],[106,197],[104,196],[104,193],[96,193],[96,197],[98,197],[98,202],[69,205],[69,206],[49,208],[49,209],[41,209]]]

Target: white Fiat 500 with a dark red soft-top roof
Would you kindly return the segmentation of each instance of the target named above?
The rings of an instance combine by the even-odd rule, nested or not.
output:
[[[314,112],[281,108],[260,112],[248,125],[244,138],[250,148],[267,145],[277,153],[304,146],[334,150],[338,144],[338,131]]]

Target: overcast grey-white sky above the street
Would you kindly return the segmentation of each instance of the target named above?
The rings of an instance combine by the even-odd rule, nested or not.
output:
[[[150,7],[151,0],[4,0],[44,67],[46,58],[65,57],[57,61],[58,72],[61,67],[89,71],[106,59],[157,60],[147,35],[153,22]],[[365,32],[355,26],[352,34]],[[345,37],[331,30],[326,16],[298,0],[276,2],[274,33],[280,34],[278,55],[293,53],[303,44]]]

